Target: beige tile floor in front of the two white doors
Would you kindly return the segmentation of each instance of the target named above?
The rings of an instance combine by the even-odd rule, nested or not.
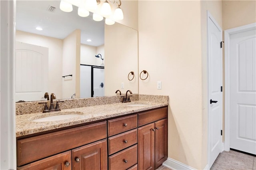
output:
[[[210,170],[256,170],[256,157],[234,150],[223,151]]]

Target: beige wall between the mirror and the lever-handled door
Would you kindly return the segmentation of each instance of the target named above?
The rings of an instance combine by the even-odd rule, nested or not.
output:
[[[168,157],[196,169],[207,164],[206,10],[221,24],[221,5],[138,2],[139,72],[149,73],[139,81],[139,92],[169,96]],[[162,81],[161,90],[157,81]]]

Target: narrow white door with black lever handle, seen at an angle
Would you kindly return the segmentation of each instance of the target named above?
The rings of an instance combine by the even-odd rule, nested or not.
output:
[[[209,13],[208,13],[209,14]],[[208,164],[211,167],[222,151],[222,30],[208,16]],[[211,101],[211,102],[210,102]]]

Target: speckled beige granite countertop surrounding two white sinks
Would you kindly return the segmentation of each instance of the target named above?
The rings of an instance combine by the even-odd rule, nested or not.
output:
[[[143,106],[128,106],[133,104],[144,104]],[[167,106],[168,102],[133,101],[131,103],[114,103],[107,105],[96,105],[89,107],[78,107],[74,109],[63,109],[53,113],[30,113],[16,115],[16,137],[63,128],[92,121],[108,119],[116,116],[146,111],[158,107]],[[80,117],[65,119],[61,121],[33,122],[35,119],[66,114],[78,114]]]

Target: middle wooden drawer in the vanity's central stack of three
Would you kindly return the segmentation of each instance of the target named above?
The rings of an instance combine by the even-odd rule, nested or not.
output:
[[[137,128],[108,138],[108,154],[128,148],[137,143]]]

